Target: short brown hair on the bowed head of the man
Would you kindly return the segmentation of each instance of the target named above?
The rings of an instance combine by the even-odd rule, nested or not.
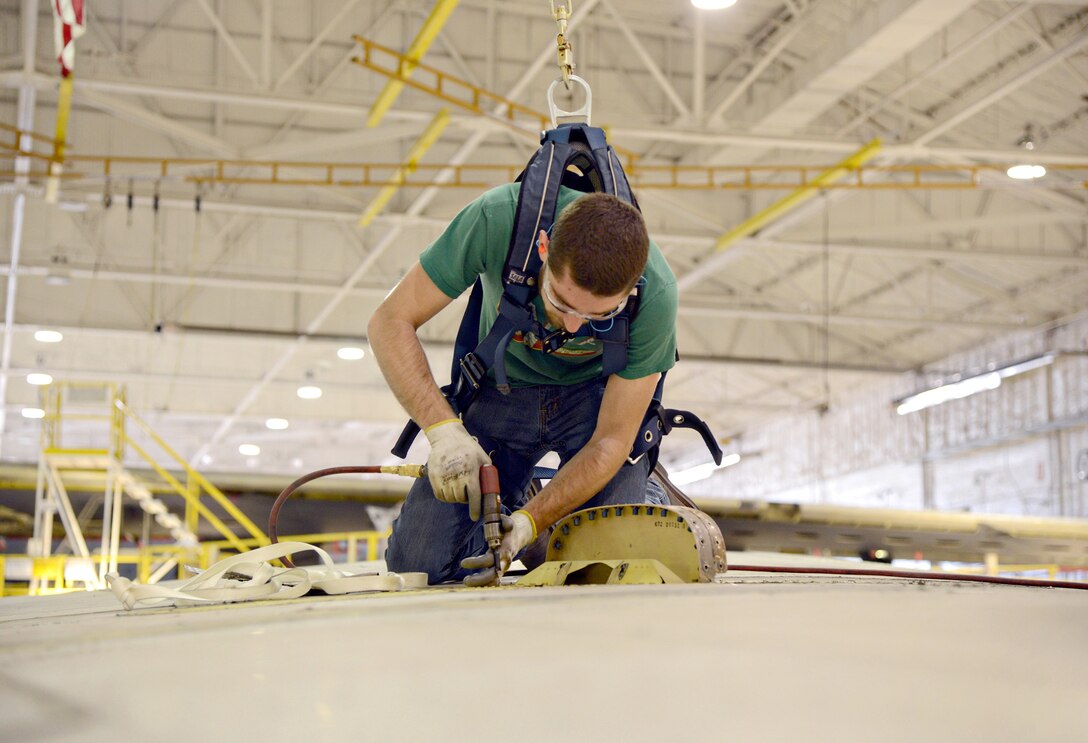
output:
[[[638,209],[610,194],[586,194],[552,230],[548,268],[598,297],[630,292],[646,268],[650,235]]]

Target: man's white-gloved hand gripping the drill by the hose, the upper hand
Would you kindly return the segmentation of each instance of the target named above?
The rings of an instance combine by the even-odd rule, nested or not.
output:
[[[435,423],[423,433],[431,442],[426,476],[434,497],[445,503],[468,503],[469,517],[479,521],[480,468],[490,465],[491,458],[456,418]]]

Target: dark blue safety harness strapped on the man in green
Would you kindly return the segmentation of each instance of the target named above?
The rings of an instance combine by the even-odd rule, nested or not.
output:
[[[543,133],[541,148],[517,181],[521,184],[521,190],[503,269],[503,296],[498,302],[498,317],[487,335],[479,340],[483,284],[478,278],[457,332],[452,381],[442,387],[443,395],[456,414],[463,414],[472,405],[489,371],[493,371],[495,387],[500,393],[505,395],[510,392],[506,373],[506,348],[519,332],[539,338],[545,354],[555,352],[572,338],[592,337],[599,340],[603,346],[602,379],[627,367],[630,329],[639,312],[644,278],[640,278],[619,314],[603,322],[588,322],[574,333],[562,329],[546,329],[536,318],[532,304],[543,265],[536,249],[537,236],[542,230],[551,234],[557,216],[556,205],[561,186],[584,193],[611,194],[639,208],[616,151],[608,145],[601,128],[588,123],[562,123]],[[662,436],[673,428],[685,428],[697,431],[715,462],[721,463],[721,449],[706,423],[687,410],[670,410],[662,406],[664,384],[665,374],[662,374],[639,438],[631,449],[630,460],[636,461],[648,453],[653,466],[657,460],[657,445]],[[408,421],[393,447],[393,454],[405,458],[418,434],[419,425],[415,421]]]

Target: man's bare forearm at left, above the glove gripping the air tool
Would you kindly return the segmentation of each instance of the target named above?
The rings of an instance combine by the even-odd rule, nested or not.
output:
[[[390,389],[420,428],[454,418],[453,408],[435,384],[423,346],[410,323],[375,314],[368,334]]]

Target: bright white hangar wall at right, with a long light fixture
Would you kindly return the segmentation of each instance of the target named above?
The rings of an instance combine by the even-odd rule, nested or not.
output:
[[[899,416],[894,400],[954,373],[1062,351],[997,389]],[[688,486],[698,497],[1088,516],[1088,314],[1004,336],[746,430],[740,463]]]

